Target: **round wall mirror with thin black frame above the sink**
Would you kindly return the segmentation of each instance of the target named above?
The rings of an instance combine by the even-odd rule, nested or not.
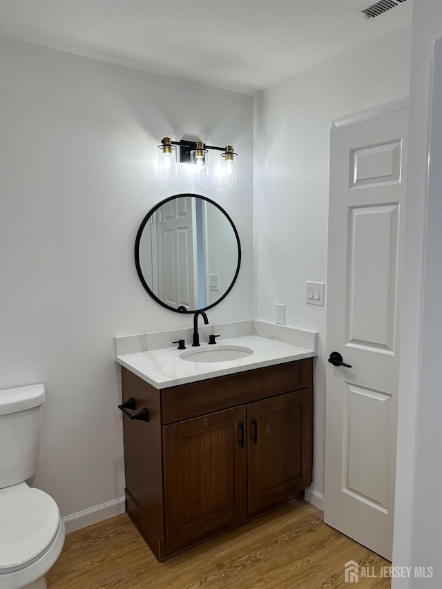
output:
[[[240,262],[240,238],[231,218],[198,194],[162,200],[144,217],[135,240],[144,288],[178,313],[217,305],[233,287]]]

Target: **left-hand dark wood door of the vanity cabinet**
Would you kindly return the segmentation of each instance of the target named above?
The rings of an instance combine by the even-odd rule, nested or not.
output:
[[[245,417],[241,405],[163,427],[168,550],[247,516]]]

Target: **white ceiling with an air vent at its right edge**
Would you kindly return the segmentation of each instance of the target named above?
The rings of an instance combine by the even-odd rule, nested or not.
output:
[[[373,0],[374,1],[374,0]],[[411,19],[367,0],[0,0],[0,35],[253,93]]]

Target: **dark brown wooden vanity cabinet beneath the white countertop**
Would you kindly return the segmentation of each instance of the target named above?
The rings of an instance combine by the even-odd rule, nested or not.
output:
[[[122,367],[126,511],[160,561],[311,484],[312,358],[156,389]]]

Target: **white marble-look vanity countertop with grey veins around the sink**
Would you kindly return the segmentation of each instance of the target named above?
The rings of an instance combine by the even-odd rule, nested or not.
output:
[[[315,349],[299,347],[256,334],[223,338],[215,345],[204,343],[198,348],[189,345],[186,351],[202,351],[205,347],[213,349],[215,346],[244,346],[253,349],[253,354],[240,360],[192,362],[180,358],[182,350],[177,349],[175,345],[162,349],[136,351],[132,354],[117,354],[115,360],[155,388],[164,389],[318,355]]]

